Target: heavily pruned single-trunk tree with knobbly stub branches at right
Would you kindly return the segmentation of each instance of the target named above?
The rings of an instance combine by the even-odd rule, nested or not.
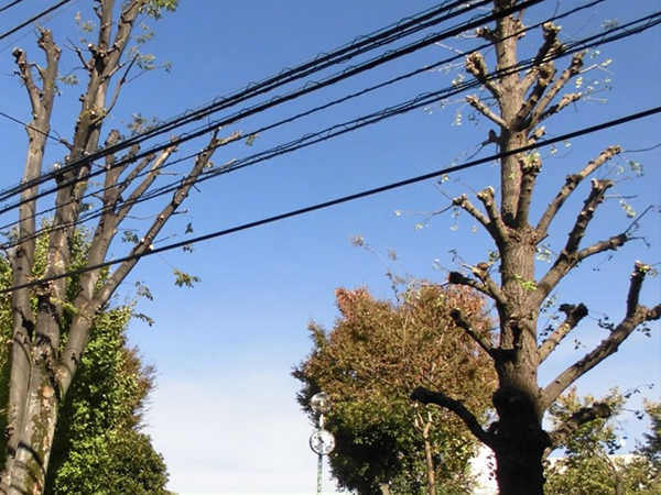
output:
[[[597,241],[585,240],[615,184],[609,178],[598,178],[598,173],[621,153],[619,145],[597,152],[583,168],[571,172],[548,206],[533,201],[539,193],[543,157],[527,146],[539,143],[545,124],[586,96],[581,90],[570,89],[576,86],[571,82],[582,75],[585,53],[575,53],[566,62],[556,61],[565,52],[565,44],[561,41],[560,26],[546,22],[541,26],[542,40],[530,68],[519,70],[518,48],[524,25],[522,14],[512,13],[511,9],[516,10],[520,3],[495,0],[495,12],[502,16],[495,25],[476,33],[492,45],[492,52],[483,55],[476,51],[466,56],[467,74],[484,88],[484,94],[466,97],[466,103],[495,128],[485,145],[492,143],[500,153],[499,183],[478,191],[475,198],[455,197],[453,205],[486,230],[494,244],[494,255],[466,263],[467,270],[451,272],[448,276],[451,284],[473,287],[495,306],[498,318],[495,342],[485,339],[479,328],[464,318],[460,308],[452,315],[455,323],[490,358],[498,376],[492,396],[497,418],[488,428],[483,427],[470,408],[444,386],[422,384],[412,398],[452,410],[476,438],[494,450],[500,495],[541,495],[545,452],[564,442],[582,425],[609,416],[610,410],[596,403],[577,410],[552,431],[542,425],[544,414],[574,382],[617,352],[637,328],[658,320],[661,305],[648,307],[641,302],[641,288],[650,266],[636,263],[624,297],[624,317],[608,323],[604,340],[583,358],[548,383],[540,383],[540,366],[588,315],[584,302],[565,302],[559,307],[564,316],[546,330],[540,324],[540,311],[548,298],[579,263],[628,245],[635,238],[629,228],[607,232]],[[525,40],[532,43],[531,34],[527,34]],[[495,77],[491,70],[496,70]],[[587,190],[578,193],[589,177],[593,178]],[[545,187],[550,187],[550,183],[545,183]],[[584,195],[584,202],[572,213],[574,220],[565,229],[566,238],[557,241],[557,255],[551,260],[550,267],[537,273],[538,251],[542,243],[553,243],[560,229],[557,223],[565,218],[565,210],[572,208],[570,198],[576,194]],[[563,215],[559,215],[561,211]]]

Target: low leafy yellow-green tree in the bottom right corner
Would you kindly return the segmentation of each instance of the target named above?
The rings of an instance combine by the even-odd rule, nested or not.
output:
[[[644,404],[646,413],[637,411],[639,419],[652,420],[652,435],[633,453],[622,454],[624,432],[617,420],[626,405],[626,396],[613,391],[599,399],[611,411],[608,418],[597,418],[583,425],[567,438],[561,448],[563,457],[553,459],[546,469],[548,492],[555,495],[658,495],[661,493],[653,457],[641,454],[653,450],[654,422],[658,424],[659,405]],[[562,396],[550,409],[554,425],[563,425],[578,410],[590,407],[594,397],[578,397],[575,389]],[[654,414],[655,413],[655,414]]]

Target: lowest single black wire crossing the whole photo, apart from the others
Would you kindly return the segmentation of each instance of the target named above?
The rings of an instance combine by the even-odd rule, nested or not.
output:
[[[613,127],[616,127],[616,125],[621,125],[621,124],[625,124],[625,123],[628,123],[628,122],[631,122],[631,121],[635,121],[635,120],[643,119],[646,117],[650,117],[650,116],[653,116],[653,114],[657,114],[657,113],[661,113],[661,107],[654,107],[654,108],[651,108],[651,109],[642,111],[642,112],[638,112],[638,113],[633,113],[633,114],[630,114],[630,116],[626,116],[626,117],[622,117],[620,119],[611,120],[611,121],[608,121],[608,122],[603,122],[600,124],[593,125],[593,127],[589,127],[589,128],[584,128],[584,129],[578,130],[578,131],[574,131],[574,132],[570,132],[570,133],[563,134],[563,135],[559,135],[556,138],[552,138],[552,139],[543,141],[543,142],[537,142],[537,143],[533,143],[533,144],[529,144],[527,146],[521,146],[519,148],[510,150],[508,152],[500,152],[500,153],[497,153],[495,155],[486,156],[484,158],[478,158],[478,160],[475,160],[475,161],[472,161],[472,162],[467,162],[467,163],[462,164],[462,165],[455,165],[455,166],[446,167],[446,168],[443,168],[443,169],[437,170],[437,172],[432,172],[432,173],[429,173],[429,174],[419,175],[416,177],[412,177],[412,178],[409,178],[409,179],[400,180],[400,182],[397,182],[397,183],[391,183],[391,184],[386,185],[386,186],[380,186],[380,187],[376,187],[373,189],[364,190],[361,193],[356,193],[356,194],[353,194],[353,195],[349,195],[349,196],[344,196],[344,197],[340,197],[340,198],[336,198],[336,199],[333,199],[333,200],[329,200],[329,201],[319,202],[319,204],[316,204],[316,205],[313,205],[313,206],[308,206],[308,207],[305,207],[305,208],[301,208],[301,209],[297,209],[297,210],[291,210],[291,211],[285,212],[285,213],[277,215],[277,216],[273,216],[273,217],[264,218],[264,219],[257,220],[257,221],[249,222],[249,223],[243,223],[241,226],[232,227],[232,228],[229,228],[229,229],[215,231],[215,232],[212,232],[212,233],[208,233],[208,234],[205,234],[205,235],[198,235],[198,237],[189,239],[187,241],[175,242],[175,243],[167,244],[167,245],[164,245],[164,246],[161,246],[161,248],[153,248],[153,249],[151,249],[149,251],[145,251],[143,253],[140,253],[140,254],[129,254],[128,256],[119,257],[119,258],[116,258],[116,260],[112,260],[112,261],[107,261],[107,262],[98,263],[98,264],[95,264],[95,265],[91,265],[91,266],[86,266],[84,268],[72,270],[69,272],[66,272],[66,273],[63,273],[63,274],[59,274],[59,275],[54,275],[54,276],[51,276],[51,277],[44,277],[44,278],[32,280],[32,282],[29,282],[29,283],[25,283],[25,284],[15,285],[15,286],[12,286],[12,287],[0,289],[0,294],[8,294],[8,293],[11,293],[11,292],[14,292],[14,290],[22,289],[22,288],[35,287],[37,285],[47,284],[50,282],[54,282],[54,280],[57,280],[57,279],[61,279],[61,278],[66,278],[66,277],[79,275],[79,274],[83,274],[83,273],[86,273],[86,272],[91,272],[91,271],[95,271],[95,270],[105,268],[105,267],[112,266],[112,265],[116,265],[116,264],[119,264],[119,263],[123,263],[123,262],[128,262],[128,261],[139,260],[139,258],[142,258],[142,257],[150,256],[152,254],[158,254],[158,253],[162,253],[162,252],[165,252],[165,251],[171,251],[171,250],[174,250],[174,249],[183,248],[185,245],[189,245],[189,244],[194,244],[194,243],[198,243],[198,242],[209,241],[212,239],[216,239],[216,238],[229,235],[229,234],[232,234],[232,233],[236,233],[236,232],[240,232],[240,231],[243,231],[243,230],[254,229],[257,227],[266,226],[266,224],[269,224],[269,223],[274,223],[274,222],[278,222],[278,221],[281,221],[281,220],[285,220],[285,219],[289,219],[289,218],[293,218],[293,217],[299,217],[299,216],[302,216],[302,215],[305,215],[305,213],[310,213],[310,212],[313,212],[313,211],[326,209],[326,208],[329,208],[329,207],[333,207],[333,206],[342,205],[342,204],[349,202],[349,201],[355,201],[357,199],[366,198],[366,197],[369,197],[369,196],[375,196],[377,194],[381,194],[381,193],[386,193],[386,191],[389,191],[389,190],[398,189],[398,188],[401,188],[401,187],[404,187],[404,186],[410,186],[412,184],[416,184],[416,183],[421,183],[421,182],[424,182],[424,180],[429,180],[431,178],[440,177],[442,175],[453,174],[455,172],[464,170],[464,169],[467,169],[467,168],[473,168],[473,167],[476,167],[478,165],[484,165],[486,163],[489,163],[489,162],[492,162],[492,161],[496,161],[496,160],[501,160],[501,158],[505,158],[507,156],[511,156],[511,155],[514,155],[514,154],[518,154],[518,153],[525,153],[525,152],[529,152],[529,151],[532,151],[532,150],[538,150],[540,147],[549,146],[549,145],[552,145],[552,144],[555,144],[555,143],[559,143],[559,142],[563,142],[563,141],[575,139],[575,138],[579,138],[582,135],[592,134],[594,132],[598,132],[598,131],[602,131],[602,130],[605,130],[605,129],[608,129],[608,128],[613,128]]]

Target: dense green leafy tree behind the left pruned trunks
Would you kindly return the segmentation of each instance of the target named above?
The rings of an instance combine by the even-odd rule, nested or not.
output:
[[[45,267],[47,239],[36,240],[35,276]],[[72,245],[72,266],[80,266],[90,248],[83,231]],[[105,273],[105,278],[108,274]],[[11,264],[0,256],[0,287],[12,283]],[[69,283],[71,289],[75,284]],[[69,290],[65,307],[75,293]],[[32,300],[35,305],[36,300]],[[45,495],[105,495],[134,493],[169,495],[167,470],[142,428],[148,395],[154,387],[154,369],[144,365],[127,342],[129,322],[136,316],[134,300],[113,301],[95,316],[80,370],[63,400],[55,428]],[[64,311],[64,338],[71,314]],[[11,299],[0,299],[0,337],[12,337]],[[7,427],[10,382],[10,348],[0,348],[0,428]],[[0,449],[6,450],[6,438]],[[4,462],[4,459],[1,460]],[[124,490],[130,486],[131,490]]]

